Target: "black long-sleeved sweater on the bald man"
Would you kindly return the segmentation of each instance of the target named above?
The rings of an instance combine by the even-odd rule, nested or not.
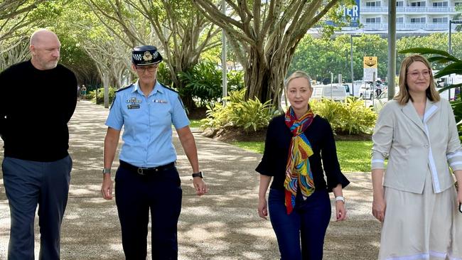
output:
[[[68,121],[77,80],[63,65],[37,70],[30,60],[0,73],[0,136],[4,155],[29,161],[68,156]]]

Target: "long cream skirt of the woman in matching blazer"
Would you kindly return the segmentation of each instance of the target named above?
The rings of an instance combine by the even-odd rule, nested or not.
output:
[[[462,213],[456,188],[434,193],[427,174],[424,193],[385,187],[380,260],[462,260]]]

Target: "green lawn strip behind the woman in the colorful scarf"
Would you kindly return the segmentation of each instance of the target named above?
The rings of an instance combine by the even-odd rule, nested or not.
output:
[[[372,141],[336,141],[337,156],[343,171],[370,172]],[[263,153],[264,142],[233,142],[235,146]]]

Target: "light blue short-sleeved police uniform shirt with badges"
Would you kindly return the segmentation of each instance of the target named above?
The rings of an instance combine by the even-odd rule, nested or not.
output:
[[[122,150],[119,158],[138,167],[156,167],[176,161],[172,127],[189,125],[178,93],[156,82],[145,97],[138,81],[116,92],[106,125],[121,130]]]

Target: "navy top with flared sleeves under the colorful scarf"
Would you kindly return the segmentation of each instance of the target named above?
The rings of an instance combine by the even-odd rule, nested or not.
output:
[[[342,187],[348,185],[350,181],[343,175],[338,163],[331,124],[326,119],[316,116],[304,134],[313,149],[313,155],[308,159],[316,190],[327,188],[331,192],[332,188],[335,188],[339,183],[342,184]],[[263,158],[255,170],[260,174],[274,177],[272,189],[284,190],[287,158],[289,158],[292,136],[291,131],[286,126],[284,114],[274,117],[269,122]],[[327,183],[324,180],[324,171],[326,172]]]

